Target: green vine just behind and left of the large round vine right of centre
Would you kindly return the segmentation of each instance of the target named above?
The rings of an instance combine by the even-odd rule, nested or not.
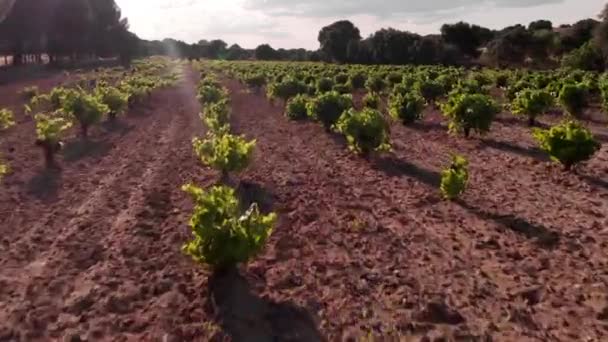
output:
[[[337,92],[321,94],[306,104],[308,116],[321,122],[329,131],[342,113],[351,108],[352,98]]]

